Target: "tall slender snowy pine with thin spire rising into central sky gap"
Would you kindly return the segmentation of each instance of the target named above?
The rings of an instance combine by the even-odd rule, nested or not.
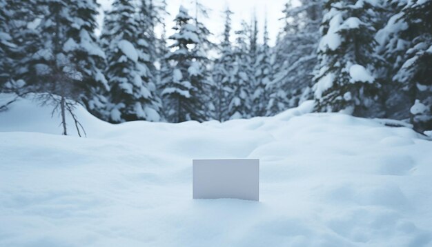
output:
[[[213,102],[215,105],[215,119],[226,121],[228,117],[228,105],[232,99],[232,72],[233,72],[233,48],[231,46],[231,15],[229,8],[224,11],[225,24],[222,42],[219,45],[219,57],[213,65],[214,90]]]

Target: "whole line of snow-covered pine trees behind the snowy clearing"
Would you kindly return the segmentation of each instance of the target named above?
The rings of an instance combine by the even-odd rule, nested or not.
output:
[[[115,0],[100,37],[95,0],[0,0],[1,90],[77,101],[112,123],[271,116],[314,99],[317,112],[432,129],[431,0],[301,2],[282,8],[271,47],[266,23],[232,30],[229,9],[212,43],[198,0],[170,37],[164,0]]]

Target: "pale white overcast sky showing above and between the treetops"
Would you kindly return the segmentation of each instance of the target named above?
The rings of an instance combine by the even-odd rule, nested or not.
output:
[[[104,10],[108,10],[113,0],[98,0],[101,3]],[[224,30],[224,18],[222,11],[229,6],[231,11],[234,12],[233,15],[233,28],[239,28],[239,23],[242,19],[250,21],[255,11],[257,13],[257,18],[259,21],[259,32],[260,32],[260,43],[262,42],[262,30],[264,28],[264,19],[267,13],[268,19],[268,31],[271,37],[271,43],[275,41],[277,32],[281,28],[281,21],[278,19],[282,17],[282,8],[287,0],[200,0],[202,4],[208,6],[212,9],[210,12],[210,19],[204,21],[208,26],[208,29],[213,32],[216,37],[213,37],[213,41],[219,41],[219,34],[222,34]],[[167,17],[166,24],[168,29],[172,28],[174,25],[173,19],[175,15],[179,12],[179,6],[190,10],[189,14],[193,15],[195,10],[191,0],[168,0],[168,12],[172,15]],[[101,18],[99,18],[101,23]],[[171,33],[167,30],[168,34]]]

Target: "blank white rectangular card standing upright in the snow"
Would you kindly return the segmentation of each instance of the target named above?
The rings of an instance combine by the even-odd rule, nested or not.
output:
[[[259,201],[259,159],[194,159],[193,199]]]

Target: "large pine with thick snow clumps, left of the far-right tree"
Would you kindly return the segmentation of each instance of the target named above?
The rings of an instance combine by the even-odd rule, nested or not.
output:
[[[373,70],[380,59],[373,50],[374,6],[364,0],[328,0],[324,8],[320,65],[313,86],[317,110],[380,116],[375,112],[380,83]]]

